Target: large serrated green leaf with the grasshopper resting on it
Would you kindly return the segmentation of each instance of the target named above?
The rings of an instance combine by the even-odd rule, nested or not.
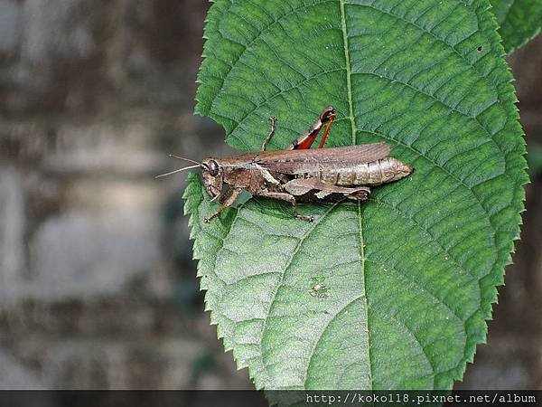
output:
[[[486,0],[217,0],[197,112],[255,151],[327,104],[329,146],[385,141],[416,167],[362,204],[253,198],[220,220],[185,192],[206,309],[266,389],[449,389],[519,237],[528,182],[512,76]],[[479,51],[481,47],[481,51]],[[325,295],[314,295],[314,281]]]

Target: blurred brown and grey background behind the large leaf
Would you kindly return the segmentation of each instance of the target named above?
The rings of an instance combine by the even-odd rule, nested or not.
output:
[[[244,389],[203,311],[168,153],[192,116],[201,0],[0,0],[0,388]],[[542,38],[509,59],[533,161],[522,241],[457,388],[542,389]]]

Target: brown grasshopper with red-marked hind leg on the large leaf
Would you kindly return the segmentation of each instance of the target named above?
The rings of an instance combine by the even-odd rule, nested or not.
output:
[[[221,205],[219,211],[204,219],[205,222],[234,204],[243,190],[289,202],[294,217],[313,222],[313,215],[297,213],[298,203],[344,198],[364,201],[369,198],[369,185],[391,183],[414,171],[412,166],[388,156],[391,147],[386,143],[322,148],[335,117],[334,109],[327,107],[313,126],[296,137],[285,150],[266,151],[266,144],[275,134],[276,118],[272,117],[271,131],[262,143],[261,151],[228,158],[210,157],[201,163],[173,156],[196,165],[164,175],[201,166],[203,183],[211,201]],[[319,148],[310,149],[326,123]],[[226,190],[225,185],[228,185]]]

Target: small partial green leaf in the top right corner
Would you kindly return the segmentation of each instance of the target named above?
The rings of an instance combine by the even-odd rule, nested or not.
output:
[[[507,53],[528,43],[542,27],[541,0],[491,0]]]

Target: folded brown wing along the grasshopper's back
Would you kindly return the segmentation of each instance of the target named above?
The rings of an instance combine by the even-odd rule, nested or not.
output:
[[[304,174],[325,169],[359,166],[385,158],[391,147],[387,143],[360,146],[265,151],[255,163],[269,171],[282,174]]]

